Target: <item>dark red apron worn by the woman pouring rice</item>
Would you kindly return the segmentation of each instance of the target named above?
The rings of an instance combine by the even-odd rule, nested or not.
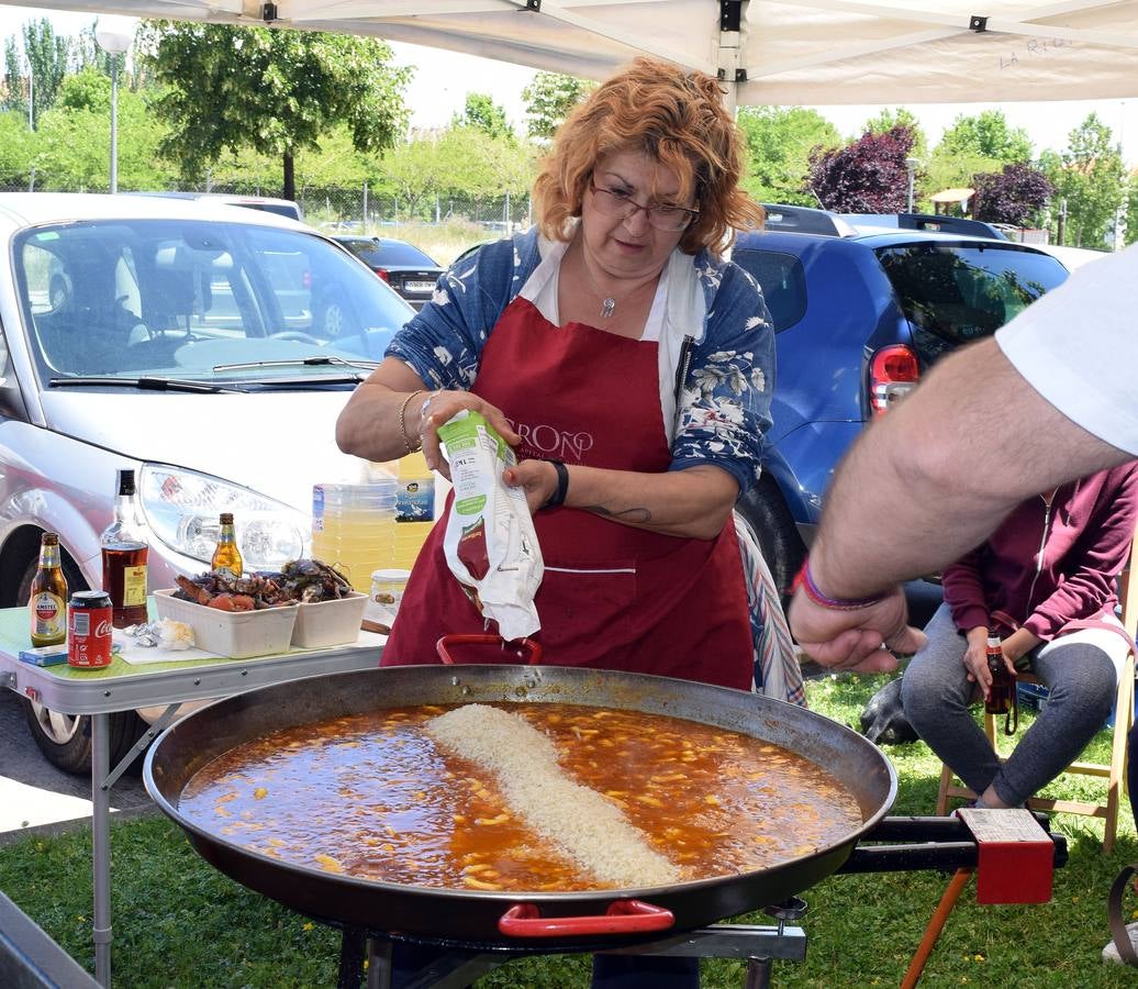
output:
[[[661,472],[671,451],[657,352],[654,341],[583,323],[555,327],[519,297],[487,340],[471,390],[510,419],[519,460]],[[382,666],[438,662],[439,636],[485,631],[446,564],[450,508],[451,498],[419,553]],[[747,590],[729,520],[712,541],[567,508],[537,512],[534,525],[545,561],[535,599],[545,661],[750,689]]]

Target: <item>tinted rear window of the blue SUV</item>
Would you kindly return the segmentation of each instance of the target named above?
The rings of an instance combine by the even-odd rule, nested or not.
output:
[[[921,357],[987,337],[1066,279],[1054,257],[988,244],[921,242],[877,250]]]

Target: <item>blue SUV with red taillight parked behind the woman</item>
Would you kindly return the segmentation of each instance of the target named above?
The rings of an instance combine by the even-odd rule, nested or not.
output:
[[[866,423],[942,354],[995,332],[1067,271],[1008,240],[867,232],[824,211],[767,211],[767,229],[740,234],[732,254],[762,288],[777,358],[764,476],[739,509],[785,592],[831,475]]]

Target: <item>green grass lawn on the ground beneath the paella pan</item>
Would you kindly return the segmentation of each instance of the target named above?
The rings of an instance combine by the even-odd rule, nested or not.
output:
[[[811,681],[811,706],[857,725],[884,683],[873,677]],[[1024,719],[1026,720],[1026,719]],[[1021,732],[1026,727],[1021,725]],[[1088,758],[1105,760],[1110,734]],[[940,764],[921,743],[885,749],[900,780],[894,814],[932,814]],[[1078,782],[1077,782],[1078,781]],[[1062,777],[1049,792],[1094,793],[1100,783]],[[1099,790],[1100,792],[1100,790]],[[1055,873],[1055,895],[1038,906],[978,906],[960,897],[925,969],[922,986],[1040,986],[1082,989],[1138,984],[1132,970],[1104,965],[1106,895],[1114,875],[1138,859],[1129,808],[1115,851],[1102,851],[1102,822],[1057,815],[1070,863]],[[0,848],[0,889],[88,970],[91,948],[90,831],[28,836]],[[117,823],[114,862],[114,961],[119,987],[335,986],[337,932],[249,892],[215,872],[165,818]],[[780,987],[899,984],[948,877],[938,873],[832,876],[803,893],[809,913],[805,963],[775,964]],[[1127,906],[1136,905],[1131,893]],[[765,914],[741,918],[769,923]],[[741,987],[742,963],[707,961],[704,987]],[[555,989],[588,983],[585,957],[516,961],[484,976],[479,989]]]

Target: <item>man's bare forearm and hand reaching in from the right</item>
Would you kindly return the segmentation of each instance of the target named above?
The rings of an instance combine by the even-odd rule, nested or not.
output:
[[[884,600],[843,611],[800,588],[789,613],[795,640],[826,666],[896,666],[882,644],[923,644],[899,582],[979,545],[1024,498],[1131,459],[1058,412],[995,340],[957,352],[866,430],[826,494],[810,550],[815,584],[831,597]]]

